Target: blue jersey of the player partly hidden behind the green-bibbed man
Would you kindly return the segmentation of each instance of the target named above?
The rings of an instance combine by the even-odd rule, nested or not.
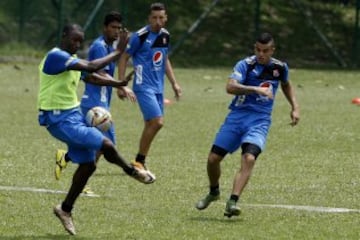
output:
[[[88,60],[92,61],[105,57],[114,51],[112,45],[108,45],[104,36],[98,37],[90,46]],[[103,70],[111,76],[114,76],[115,62],[109,63]],[[106,109],[110,108],[112,87],[98,86],[91,83],[85,83],[84,94],[81,99],[81,107],[91,108],[94,106],[102,106]]]

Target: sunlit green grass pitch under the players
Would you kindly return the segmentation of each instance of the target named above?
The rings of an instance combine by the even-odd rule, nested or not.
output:
[[[36,191],[67,191],[76,167],[55,180],[55,150],[64,145],[37,124],[37,66],[0,65],[0,239],[360,239],[360,107],[351,104],[360,97],[360,72],[292,70],[300,125],[289,126],[279,92],[242,215],[223,217],[240,152],[222,163],[221,200],[194,208],[208,191],[206,158],[231,99],[230,71],[175,70],[183,98],[166,107],[152,145],[148,166],[156,183],[135,182],[102,159],[90,181],[100,197],[78,199],[78,235],[70,237],[52,214],[64,194]],[[166,97],[172,99],[169,85]],[[114,99],[112,114],[118,148],[131,160],[142,130],[138,107]],[[355,211],[336,212],[346,209]]]

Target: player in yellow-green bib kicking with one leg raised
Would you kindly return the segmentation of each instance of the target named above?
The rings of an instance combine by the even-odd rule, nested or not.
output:
[[[46,127],[53,137],[67,144],[71,161],[79,165],[64,201],[54,207],[54,214],[71,235],[76,234],[71,217],[73,205],[96,169],[97,151],[103,152],[107,161],[118,165],[134,179],[142,183],[154,181],[147,171],[129,164],[100,130],[86,125],[77,98],[81,71],[86,75],[85,82],[113,87],[127,85],[126,80],[115,80],[96,72],[119,58],[128,41],[127,32],[120,33],[119,44],[112,53],[93,61],[79,59],[75,55],[83,40],[84,32],[79,25],[66,25],[60,46],[50,50],[39,65],[39,124]]]

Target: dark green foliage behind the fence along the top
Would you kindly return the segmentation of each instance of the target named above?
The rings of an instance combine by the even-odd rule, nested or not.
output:
[[[39,50],[48,49],[58,41],[59,3],[44,0],[0,1],[0,46],[21,41]],[[97,0],[63,0],[62,19],[85,25]],[[105,0],[94,21],[86,30],[91,41],[102,28],[103,16],[110,10],[120,11],[129,30],[147,23],[153,1]],[[168,8],[168,30],[172,45],[183,38],[187,29],[212,1],[164,0]],[[256,29],[273,33],[277,57],[296,67],[338,67],[334,54],[326,47],[305,15],[333,46],[333,51],[350,67],[359,66],[355,46],[355,6],[340,1],[260,0],[260,21],[256,24],[256,2],[222,0],[188,36],[173,55],[177,66],[230,66],[236,59],[252,54]],[[304,11],[299,10],[299,3]],[[23,23],[23,24],[21,24]],[[21,27],[22,26],[22,27]],[[360,30],[359,30],[360,31]],[[359,40],[357,40],[359,41]],[[360,41],[358,42],[360,45]],[[87,44],[84,45],[86,47]],[[358,49],[360,46],[358,46]],[[359,51],[358,51],[359,52]],[[357,61],[357,62],[354,62]]]

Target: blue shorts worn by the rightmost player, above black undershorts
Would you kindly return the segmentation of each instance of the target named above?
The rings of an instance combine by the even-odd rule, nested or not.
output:
[[[214,145],[233,153],[243,143],[251,143],[263,151],[270,125],[268,114],[231,111],[216,134]]]

